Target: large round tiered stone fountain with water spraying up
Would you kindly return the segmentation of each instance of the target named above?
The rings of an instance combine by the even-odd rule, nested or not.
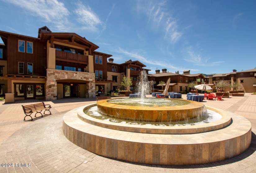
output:
[[[63,117],[63,133],[68,140],[92,153],[144,164],[203,164],[232,158],[251,142],[251,124],[242,116],[182,99],[145,98],[147,78],[141,73],[142,98],[101,100],[73,109]],[[144,90],[145,89],[145,90]],[[154,102],[154,103],[148,103]],[[162,102],[164,105],[161,105]],[[168,103],[170,105],[166,106]],[[178,104],[178,105],[177,105]],[[156,106],[157,105],[157,106]],[[105,115],[121,120],[180,121],[206,114],[205,108],[222,118],[190,126],[148,126],[115,123],[88,116],[84,111],[97,106]],[[196,112],[196,113],[195,113]]]

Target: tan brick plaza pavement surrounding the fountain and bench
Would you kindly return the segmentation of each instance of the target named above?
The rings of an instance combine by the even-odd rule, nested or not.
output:
[[[186,99],[186,95],[182,95]],[[70,98],[44,101],[52,106],[52,115],[23,121],[21,105],[44,100],[0,101],[0,173],[2,172],[256,172],[256,95],[204,100],[205,105],[234,112],[252,124],[252,143],[244,153],[224,161],[200,165],[147,165],[105,158],[68,141],[62,132],[63,115],[71,109],[96,103],[95,99]],[[26,117],[26,119],[30,117]],[[2,163],[13,163],[2,167]],[[21,167],[15,163],[26,163]],[[26,165],[23,165],[26,166]]]

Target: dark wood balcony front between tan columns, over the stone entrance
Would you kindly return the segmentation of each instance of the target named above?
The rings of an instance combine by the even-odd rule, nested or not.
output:
[[[56,50],[56,60],[88,64],[88,56]]]

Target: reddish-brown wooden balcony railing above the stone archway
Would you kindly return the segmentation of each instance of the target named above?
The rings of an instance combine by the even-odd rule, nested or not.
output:
[[[88,62],[88,56],[56,50],[56,58]]]

